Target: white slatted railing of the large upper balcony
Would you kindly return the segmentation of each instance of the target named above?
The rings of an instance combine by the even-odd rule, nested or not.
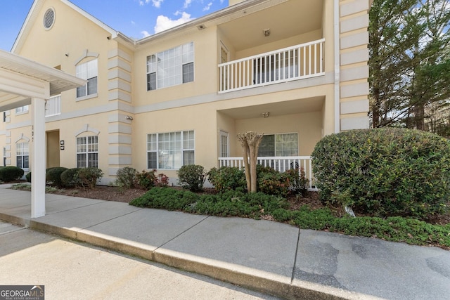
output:
[[[325,74],[325,39],[219,65],[219,93]]]

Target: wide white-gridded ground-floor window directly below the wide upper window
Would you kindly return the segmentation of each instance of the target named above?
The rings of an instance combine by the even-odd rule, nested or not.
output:
[[[194,164],[194,131],[147,135],[147,169],[179,169]]]

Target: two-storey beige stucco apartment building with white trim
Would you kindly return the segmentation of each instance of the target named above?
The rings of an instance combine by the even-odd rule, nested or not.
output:
[[[86,79],[46,101],[46,167],[157,169],[239,164],[236,134],[264,133],[260,157],[310,171],[323,136],[368,128],[371,0],[229,0],[134,40],[68,0],[35,0],[12,52]],[[2,112],[4,164],[28,164],[30,106]]]

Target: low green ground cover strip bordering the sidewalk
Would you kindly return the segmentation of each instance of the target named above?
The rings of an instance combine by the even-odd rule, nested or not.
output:
[[[302,229],[328,230],[346,235],[378,237],[392,242],[432,244],[450,247],[450,223],[445,226],[426,223],[400,216],[336,216],[327,207],[311,209],[304,205],[290,209],[283,197],[263,193],[243,193],[228,190],[217,194],[198,194],[174,188],[152,188],[129,202],[136,207],[185,211],[212,216],[241,216],[261,219],[270,216],[274,221],[290,223]]]

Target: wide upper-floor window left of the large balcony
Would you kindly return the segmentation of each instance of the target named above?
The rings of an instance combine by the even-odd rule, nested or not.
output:
[[[194,43],[147,57],[147,91],[194,81]]]

